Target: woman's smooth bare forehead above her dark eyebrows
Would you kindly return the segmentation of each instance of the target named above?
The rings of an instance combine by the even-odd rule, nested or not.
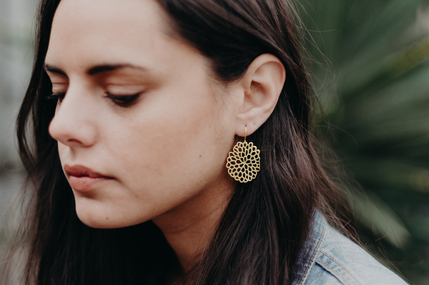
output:
[[[154,0],[62,0],[46,61],[91,65],[157,58],[173,48],[167,18]]]

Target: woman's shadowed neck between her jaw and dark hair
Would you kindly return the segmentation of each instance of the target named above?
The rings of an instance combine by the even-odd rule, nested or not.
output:
[[[153,219],[174,249],[185,272],[198,262],[210,243],[232,192],[233,183],[225,179]]]

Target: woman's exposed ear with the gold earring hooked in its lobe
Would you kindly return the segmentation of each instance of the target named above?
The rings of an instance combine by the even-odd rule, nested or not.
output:
[[[238,101],[236,134],[245,136],[256,131],[271,115],[283,89],[286,71],[280,59],[264,53],[251,62],[236,82],[241,94]]]

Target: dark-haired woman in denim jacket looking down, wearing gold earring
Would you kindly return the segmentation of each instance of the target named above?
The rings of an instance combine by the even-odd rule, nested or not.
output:
[[[18,117],[24,284],[405,284],[349,239],[293,17],[282,0],[42,1]]]

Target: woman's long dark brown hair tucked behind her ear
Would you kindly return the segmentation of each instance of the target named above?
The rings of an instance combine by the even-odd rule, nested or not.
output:
[[[40,4],[35,63],[17,121],[30,197],[20,235],[27,246],[23,284],[165,284],[171,273],[181,271],[154,223],[93,229],[76,216],[57,142],[48,134],[56,102],[45,100],[51,83],[43,63],[59,2]],[[237,185],[208,249],[184,282],[290,284],[316,209],[352,237],[344,195],[314,149],[309,116],[314,95],[293,5],[285,0],[158,2],[176,36],[207,56],[225,83],[239,78],[263,53],[274,54],[286,68],[272,115],[248,137],[261,150],[262,168],[254,181]],[[9,273],[5,267],[3,282]]]

